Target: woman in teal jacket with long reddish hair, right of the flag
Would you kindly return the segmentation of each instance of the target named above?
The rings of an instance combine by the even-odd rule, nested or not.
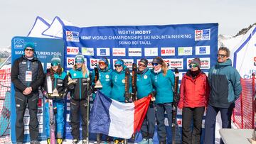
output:
[[[166,143],[166,127],[164,125],[164,112],[167,113],[169,126],[172,120],[172,102],[174,87],[174,72],[168,67],[161,57],[155,57],[152,61],[151,79],[156,89],[156,123],[159,143]]]

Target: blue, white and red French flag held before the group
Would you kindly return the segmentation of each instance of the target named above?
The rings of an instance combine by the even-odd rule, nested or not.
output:
[[[97,91],[90,112],[90,133],[131,138],[142,126],[150,99],[151,95],[133,103],[123,104]]]

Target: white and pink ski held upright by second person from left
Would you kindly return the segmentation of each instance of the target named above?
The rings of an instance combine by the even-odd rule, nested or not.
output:
[[[50,79],[50,72],[46,73],[46,83],[47,83],[47,92],[48,94],[53,94],[53,84]],[[50,113],[50,144],[55,144],[55,118],[54,118],[54,110],[53,110],[53,99],[52,97],[48,97],[48,106]]]

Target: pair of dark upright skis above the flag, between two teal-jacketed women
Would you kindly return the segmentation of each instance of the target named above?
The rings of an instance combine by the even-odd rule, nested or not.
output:
[[[129,93],[129,68],[125,69],[125,83],[124,83],[124,97],[125,102],[132,102],[137,100],[137,65],[132,64],[132,94]]]

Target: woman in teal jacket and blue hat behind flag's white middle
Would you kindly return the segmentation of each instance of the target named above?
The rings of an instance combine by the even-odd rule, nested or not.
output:
[[[112,92],[111,99],[124,103],[124,87],[125,87],[125,68],[123,60],[117,60],[114,62],[115,70],[112,72],[111,82],[112,82]],[[132,92],[131,88],[132,77],[129,77],[129,92]],[[114,138],[114,144],[127,143],[127,140],[121,140],[120,138]]]

